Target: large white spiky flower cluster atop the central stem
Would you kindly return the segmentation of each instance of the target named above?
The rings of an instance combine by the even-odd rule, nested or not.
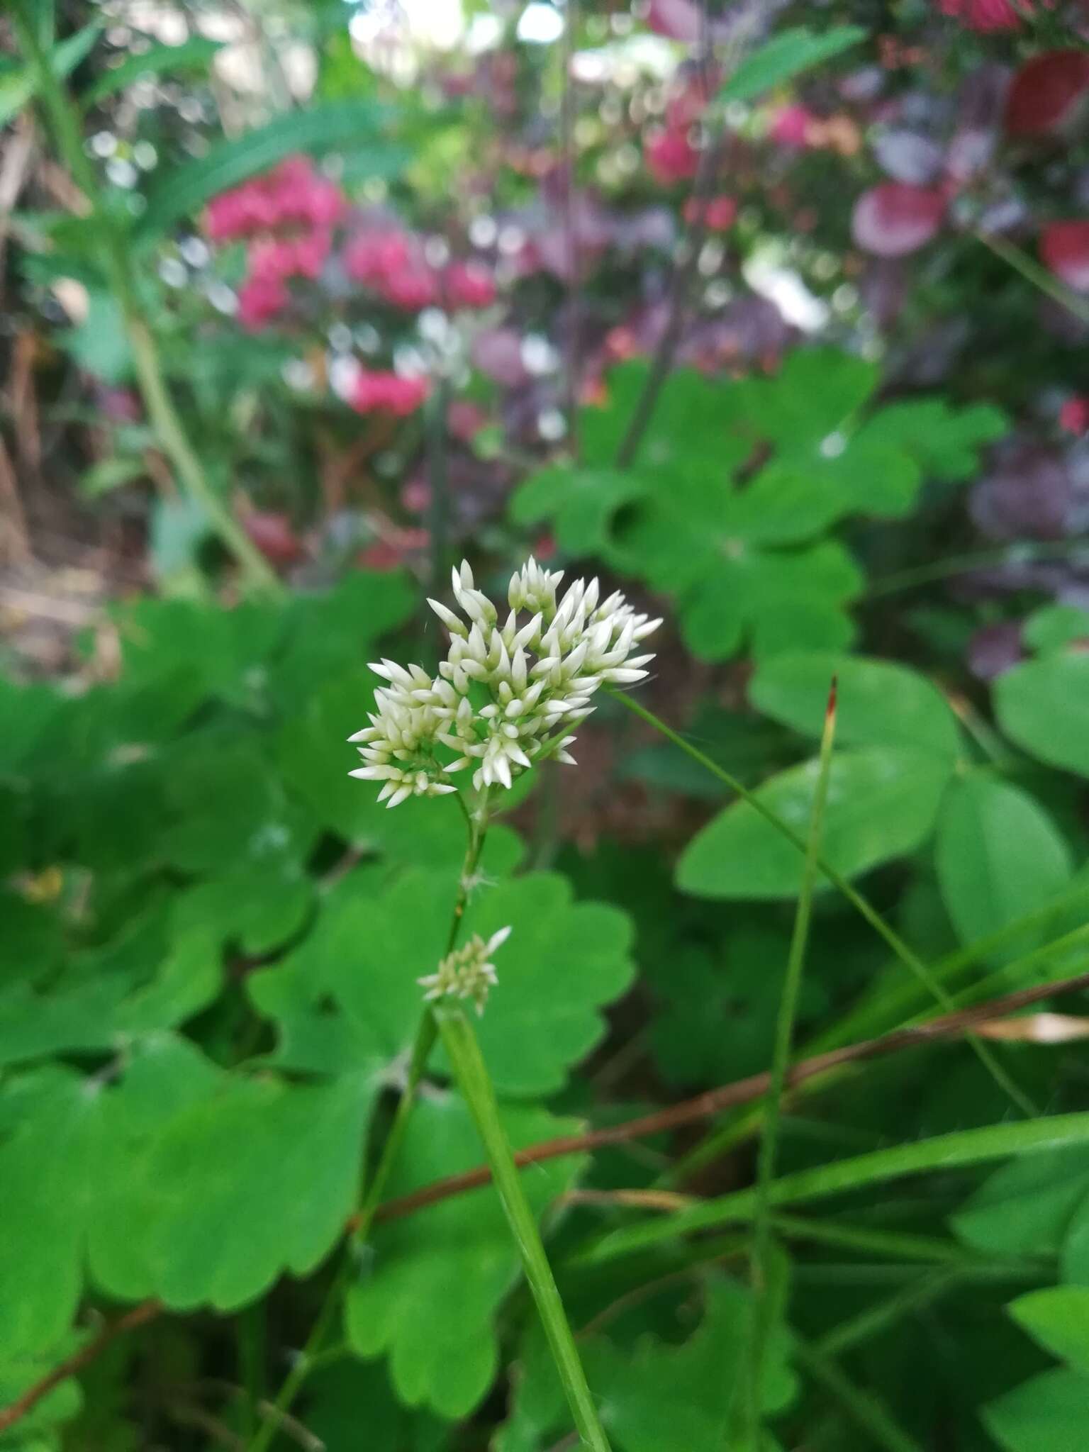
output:
[[[428,601],[450,632],[439,675],[393,661],[370,666],[388,685],[375,693],[370,725],[348,741],[363,742],[366,762],[351,775],[382,781],[379,802],[393,807],[409,796],[453,791],[449,777],[465,767],[479,790],[510,787],[546,756],[571,764],[566,748],[575,738],[565,732],[590,716],[594,691],[643,680],[653,656],[632,652],[661,620],[636,614],[620,591],[600,601],[597,579],[576,579],[558,601],[562,578],[530,558],[511,576],[510,614],[499,624],[463,562],[453,592],[465,619]],[[454,759],[441,761],[440,745]]]

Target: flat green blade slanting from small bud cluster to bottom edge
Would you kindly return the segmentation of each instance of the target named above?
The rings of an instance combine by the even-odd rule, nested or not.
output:
[[[460,1009],[440,1008],[436,1018],[457,1088],[462,1090],[484,1141],[495,1189],[518,1247],[533,1300],[537,1302],[537,1311],[575,1419],[581,1445],[592,1448],[594,1452],[608,1452],[608,1440],[598,1420],[597,1406],[582,1371],[563,1301],[540,1241],[537,1221],[523,1192],[514,1154],[499,1121],[499,1106],[476,1034]]]

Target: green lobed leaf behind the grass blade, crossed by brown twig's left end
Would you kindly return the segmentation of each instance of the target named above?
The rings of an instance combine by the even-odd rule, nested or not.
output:
[[[543,1109],[501,1109],[518,1149],[572,1134],[575,1119]],[[481,1143],[454,1095],[420,1101],[389,1183],[404,1195],[479,1165]],[[526,1176],[536,1215],[574,1180],[578,1160],[552,1160]],[[485,1397],[499,1366],[495,1316],[518,1279],[518,1252],[494,1189],[473,1191],[379,1225],[367,1273],[347,1295],[348,1343],[364,1358],[386,1355],[389,1376],[408,1407],[465,1417]]]

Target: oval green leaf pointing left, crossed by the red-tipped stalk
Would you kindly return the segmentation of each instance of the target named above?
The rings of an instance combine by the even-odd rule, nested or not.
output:
[[[828,790],[822,855],[844,877],[913,852],[929,836],[951,764],[906,746],[836,755]],[[816,788],[816,759],[758,788],[764,806],[802,833]],[[735,802],[681,854],[677,886],[697,897],[793,897],[802,852],[746,802]]]

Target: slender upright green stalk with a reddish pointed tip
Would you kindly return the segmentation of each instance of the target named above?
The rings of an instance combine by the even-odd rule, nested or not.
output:
[[[828,697],[825,711],[825,729],[820,736],[820,765],[817,772],[816,793],[813,796],[813,816],[809,826],[809,842],[806,845],[806,862],[802,873],[802,890],[794,915],[794,931],[790,938],[790,953],[787,955],[787,976],[783,983],[783,993],[778,1002],[775,1018],[775,1040],[771,1056],[771,1085],[768,1089],[767,1112],[764,1115],[764,1134],[759,1141],[756,1156],[756,1205],[754,1212],[752,1234],[752,1285],[756,1302],[752,1313],[752,1339],[749,1345],[749,1385],[748,1385],[748,1414],[749,1439],[754,1448],[761,1442],[761,1387],[764,1385],[764,1362],[767,1356],[768,1336],[771,1333],[771,1298],[768,1294],[771,1270],[771,1182],[775,1178],[775,1150],[778,1146],[778,1125],[783,1106],[783,1093],[787,1086],[787,1072],[794,1044],[794,1022],[797,1019],[797,1005],[802,993],[802,976],[806,963],[806,945],[809,942],[809,923],[813,912],[813,889],[816,886],[816,862],[820,849],[820,831],[825,820],[825,803],[828,800],[828,778],[832,764],[832,742],[836,725],[836,682]]]

